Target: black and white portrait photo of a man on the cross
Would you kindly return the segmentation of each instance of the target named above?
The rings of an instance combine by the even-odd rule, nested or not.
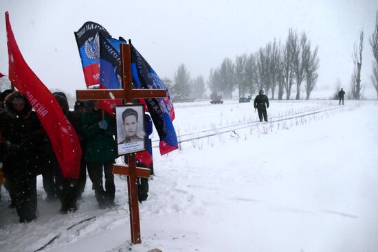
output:
[[[144,106],[124,105],[115,108],[118,154],[145,150]]]

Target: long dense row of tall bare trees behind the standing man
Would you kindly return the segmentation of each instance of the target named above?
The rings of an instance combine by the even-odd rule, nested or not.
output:
[[[305,83],[309,99],[318,80],[318,69],[318,47],[312,48],[305,32],[298,36],[290,29],[284,45],[274,39],[252,54],[236,56],[234,62],[225,58],[220,67],[210,70],[208,87],[223,98],[230,98],[237,88],[239,96],[265,89],[271,91],[274,99],[278,89],[278,100],[282,100],[284,93],[289,100],[291,87],[296,84],[299,100],[301,85]]]

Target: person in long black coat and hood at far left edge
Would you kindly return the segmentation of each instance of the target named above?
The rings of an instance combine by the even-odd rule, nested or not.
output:
[[[41,122],[26,98],[14,91],[1,113],[3,172],[20,222],[36,219],[36,163],[42,143]]]

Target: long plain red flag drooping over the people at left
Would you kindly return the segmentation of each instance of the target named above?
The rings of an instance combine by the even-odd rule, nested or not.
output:
[[[78,179],[81,148],[74,127],[69,123],[54,95],[27,65],[5,12],[8,38],[9,79],[25,95],[36,111],[54,148],[60,170],[66,179]]]

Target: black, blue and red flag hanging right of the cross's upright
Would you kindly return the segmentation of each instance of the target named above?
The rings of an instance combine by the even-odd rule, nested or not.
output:
[[[148,98],[146,106],[153,119],[153,124],[159,135],[160,154],[166,154],[178,148],[177,136],[172,120],[175,118],[172,100],[168,89],[160,80],[153,68],[144,60],[139,51],[130,43],[131,73],[138,89],[166,89],[166,98]]]

